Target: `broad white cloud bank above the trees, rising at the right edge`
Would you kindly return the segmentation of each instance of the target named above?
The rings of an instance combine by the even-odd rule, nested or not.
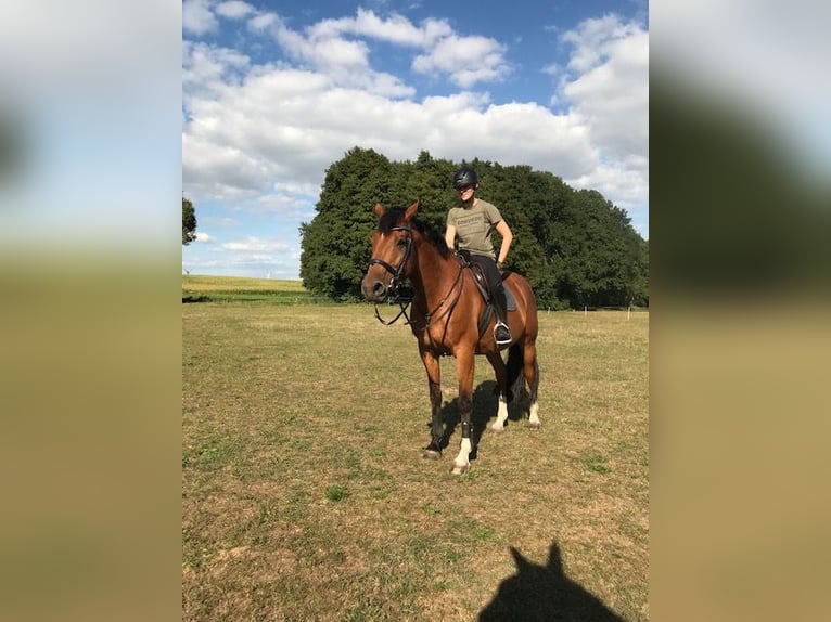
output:
[[[613,41],[604,64],[566,83],[572,111],[559,115],[534,103],[491,104],[471,92],[394,100],[374,92],[376,85],[338,88],[317,72],[255,67],[239,83],[192,101],[194,120],[182,137],[183,178],[225,198],[254,196],[273,180],[319,187],[327,166],[361,145],[396,159],[411,159],[422,148],[457,160],[488,154],[575,183],[600,183],[598,176],[615,170],[613,156],[636,153],[641,159],[621,165],[626,174],[617,176],[632,187],[632,171],[641,167],[644,180],[648,172],[647,78],[638,73],[647,69],[648,49],[641,35]],[[232,53],[212,54],[244,66]],[[214,80],[222,70],[201,75]],[[612,177],[604,185],[616,187]]]

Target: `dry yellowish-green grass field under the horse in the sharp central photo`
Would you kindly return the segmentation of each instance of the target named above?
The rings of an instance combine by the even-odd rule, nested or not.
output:
[[[261,286],[241,285],[226,291]],[[542,312],[542,428],[512,406],[451,476],[455,361],[450,445],[423,461],[408,327],[368,304],[182,287],[206,300],[182,304],[184,620],[649,619],[648,313]],[[497,403],[476,363],[484,430]]]

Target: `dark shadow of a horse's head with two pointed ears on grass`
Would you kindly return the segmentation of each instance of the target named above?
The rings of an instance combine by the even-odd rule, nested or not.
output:
[[[625,622],[565,575],[557,542],[551,544],[547,566],[528,561],[514,547],[511,555],[516,574],[502,581],[494,600],[480,612],[480,622]]]

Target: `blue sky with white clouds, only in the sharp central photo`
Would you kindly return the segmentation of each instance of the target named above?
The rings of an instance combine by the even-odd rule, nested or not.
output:
[[[645,1],[186,0],[182,269],[298,278],[298,226],[354,146],[529,165],[648,238],[648,24]]]

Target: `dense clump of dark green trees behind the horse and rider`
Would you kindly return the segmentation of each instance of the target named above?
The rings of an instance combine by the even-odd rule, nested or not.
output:
[[[312,294],[359,300],[369,263],[372,206],[420,200],[419,218],[444,231],[458,198],[453,172],[471,166],[476,195],[499,208],[514,234],[504,268],[524,275],[540,308],[649,306],[649,242],[626,212],[593,190],[574,190],[553,173],[528,166],[473,159],[391,161],[354,147],[327,169],[316,216],[301,224],[301,278]],[[501,241],[494,234],[497,248]]]

